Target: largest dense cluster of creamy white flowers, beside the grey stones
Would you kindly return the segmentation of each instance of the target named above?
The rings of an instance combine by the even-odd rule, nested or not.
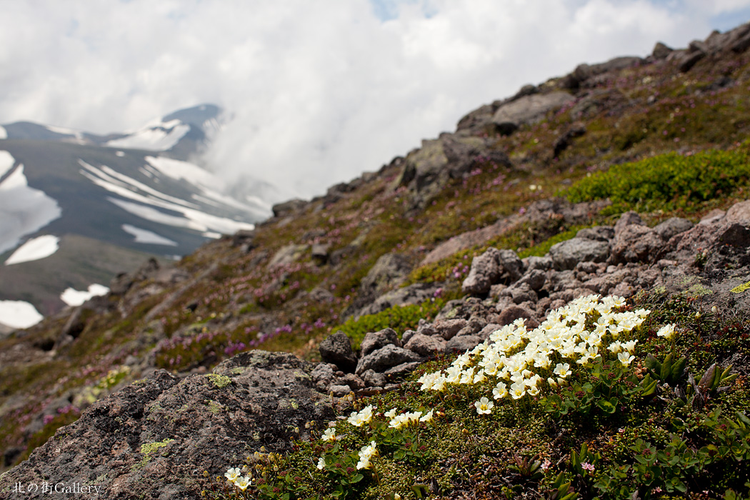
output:
[[[632,352],[637,340],[617,339],[637,328],[651,311],[616,311],[624,305],[622,297],[589,295],[553,310],[533,330],[526,328],[523,319],[517,319],[458,356],[446,370],[426,373],[418,382],[422,391],[445,391],[448,385],[478,384],[492,377],[498,380],[492,391],[494,399],[517,400],[526,394],[539,393],[544,380],[539,373],[555,376],[546,380],[551,387],[565,385],[571,375],[571,364],[589,366],[606,355],[606,350],[617,355],[623,366],[628,366],[634,360]],[[593,320],[589,329],[588,319]],[[475,403],[480,415],[490,413],[494,406],[485,399]]]

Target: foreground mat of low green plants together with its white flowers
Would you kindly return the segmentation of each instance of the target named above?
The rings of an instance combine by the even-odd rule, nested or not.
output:
[[[748,334],[684,296],[580,298],[341,407],[289,456],[228,464],[205,494],[745,498],[750,400],[725,361]],[[703,344],[711,355],[695,356]]]

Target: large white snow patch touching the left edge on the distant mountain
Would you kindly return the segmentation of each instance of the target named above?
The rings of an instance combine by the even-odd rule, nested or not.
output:
[[[21,239],[62,214],[55,199],[28,187],[23,164],[0,183],[0,253],[17,247]]]

